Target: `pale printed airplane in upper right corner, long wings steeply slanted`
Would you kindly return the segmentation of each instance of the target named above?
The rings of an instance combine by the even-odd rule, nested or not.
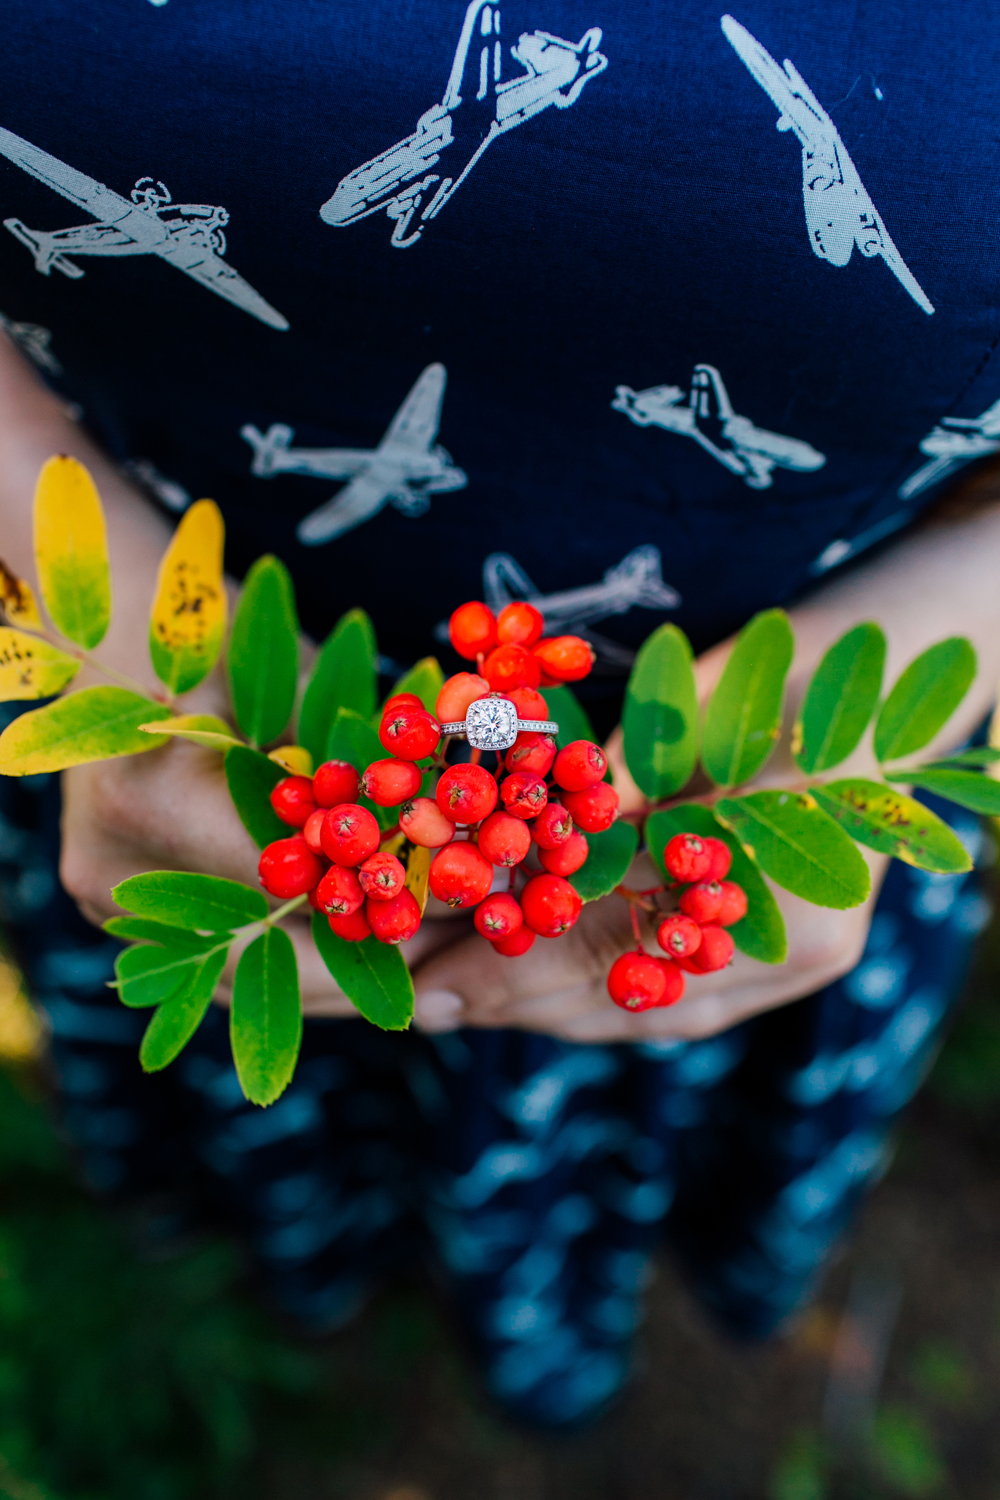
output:
[[[831,266],[847,266],[855,246],[868,258],[880,255],[916,304],[924,312],[934,312],[865,192],[837,126],[799,70],[787,58],[784,69],[778,68],[771,52],[732,15],[724,15],[721,24],[727,40],[778,110],[778,129],[793,130],[802,146],[802,201],[814,255]]]

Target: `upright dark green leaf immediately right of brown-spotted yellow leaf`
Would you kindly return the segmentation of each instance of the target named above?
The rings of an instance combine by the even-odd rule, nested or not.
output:
[[[246,576],[228,664],[240,729],[255,746],[277,740],[295,704],[298,620],[288,568],[274,556],[258,558]]]

